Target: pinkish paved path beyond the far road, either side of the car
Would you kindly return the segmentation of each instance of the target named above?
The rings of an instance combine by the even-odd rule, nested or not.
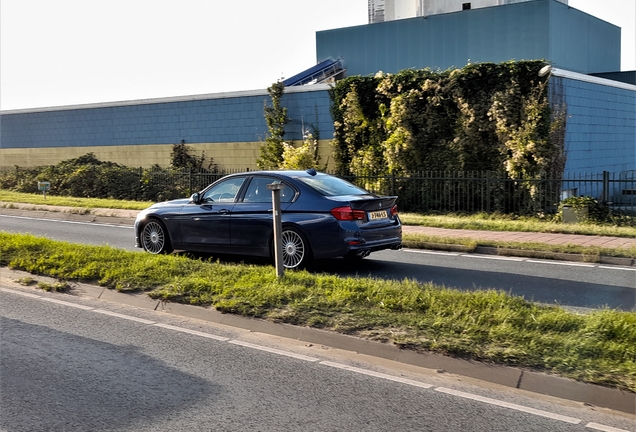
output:
[[[139,211],[137,210],[118,209],[91,209],[86,210],[86,214],[78,214],[76,213],[77,211],[78,209],[73,207],[55,207],[46,205],[0,202],[0,214],[40,217],[46,219],[92,221],[99,223],[132,225],[135,221],[137,213],[139,213]],[[477,231],[465,229],[432,228],[414,225],[405,225],[403,230],[404,233],[421,233],[435,237],[468,238],[475,240],[492,240],[501,242],[546,243],[552,245],[571,244],[606,248],[636,247],[636,238],[625,237],[513,231]]]

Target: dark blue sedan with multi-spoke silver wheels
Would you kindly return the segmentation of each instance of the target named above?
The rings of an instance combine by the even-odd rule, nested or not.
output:
[[[313,169],[231,174],[190,199],[154,204],[137,216],[135,246],[153,254],[177,249],[273,257],[269,184],[282,185],[286,268],[402,247],[397,197],[374,195]]]

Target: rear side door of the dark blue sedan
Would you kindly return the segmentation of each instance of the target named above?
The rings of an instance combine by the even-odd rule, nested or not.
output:
[[[281,209],[284,211],[296,195],[296,190],[275,177],[254,176],[245,188],[243,198],[234,205],[230,218],[232,247],[261,249],[267,254],[273,231],[271,183],[283,183]]]

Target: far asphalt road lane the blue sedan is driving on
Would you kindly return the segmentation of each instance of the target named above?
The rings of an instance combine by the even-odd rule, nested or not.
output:
[[[140,251],[134,248],[131,227],[0,215],[0,229]],[[245,257],[221,258],[250,260]],[[634,267],[402,250],[376,252],[354,262],[321,260],[312,270],[341,276],[416,279],[463,290],[498,289],[537,302],[574,308],[607,306],[636,310]]]

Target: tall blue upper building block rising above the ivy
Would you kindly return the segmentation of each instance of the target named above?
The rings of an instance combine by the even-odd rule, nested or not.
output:
[[[555,0],[536,0],[316,33],[318,61],[347,75],[472,63],[550,60],[580,73],[620,70],[620,28]]]

